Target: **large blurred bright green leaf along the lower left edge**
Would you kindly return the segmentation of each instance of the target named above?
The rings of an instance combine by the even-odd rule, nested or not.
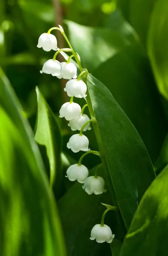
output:
[[[60,221],[32,131],[0,70],[0,250],[65,256]]]

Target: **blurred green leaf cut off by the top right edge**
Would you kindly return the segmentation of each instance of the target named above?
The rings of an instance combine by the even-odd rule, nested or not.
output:
[[[168,1],[158,0],[151,15],[148,55],[159,92],[168,100]]]

